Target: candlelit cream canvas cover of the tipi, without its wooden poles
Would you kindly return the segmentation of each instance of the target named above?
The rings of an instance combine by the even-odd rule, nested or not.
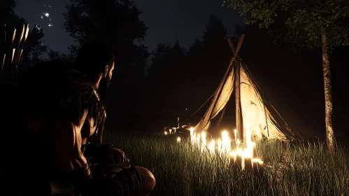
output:
[[[194,127],[195,132],[212,130],[210,129],[212,126],[211,120],[225,109],[229,100],[232,100],[230,98],[234,91],[235,79],[234,66],[231,62],[218,89],[215,91],[215,96],[208,110],[204,117],[201,118],[201,121]],[[268,139],[290,141],[301,138],[301,135],[294,133],[294,130],[286,123],[285,119],[276,109],[276,106],[266,98],[264,92],[255,82],[254,78],[252,78],[247,66],[243,62],[240,63],[240,99],[244,133],[246,132],[246,125],[250,125],[252,137],[255,137],[255,139],[266,137]],[[235,100],[233,101],[235,102]],[[234,127],[232,127],[233,129]]]

